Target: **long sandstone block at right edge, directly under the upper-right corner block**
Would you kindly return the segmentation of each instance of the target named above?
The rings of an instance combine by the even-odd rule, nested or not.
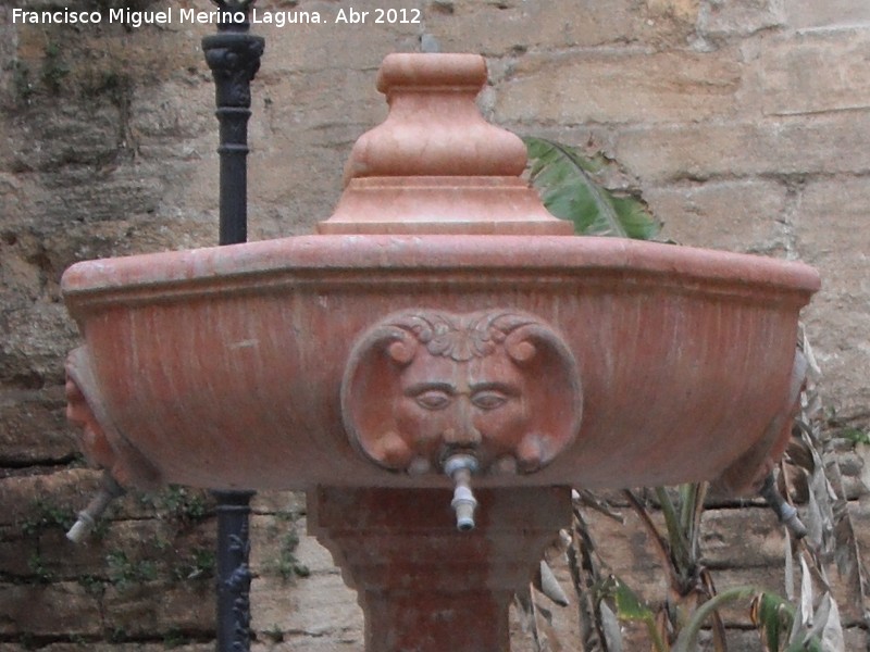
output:
[[[644,185],[680,178],[862,173],[870,171],[870,112],[633,126],[617,135],[613,155]]]

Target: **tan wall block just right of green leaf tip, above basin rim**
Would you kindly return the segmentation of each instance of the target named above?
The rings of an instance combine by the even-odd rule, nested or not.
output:
[[[788,190],[763,180],[686,181],[644,190],[663,235],[691,247],[782,254]]]

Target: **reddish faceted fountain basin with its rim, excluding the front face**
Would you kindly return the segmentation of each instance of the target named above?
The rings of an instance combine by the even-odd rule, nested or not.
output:
[[[583,419],[543,471],[477,482],[601,488],[711,479],[762,438],[787,409],[798,311],[819,278],[620,239],[336,235],[78,263],[62,284],[86,342],[76,380],[114,454],[146,461],[149,481],[442,482],[353,450],[339,397],[351,346],[397,311],[505,309],[561,333]]]

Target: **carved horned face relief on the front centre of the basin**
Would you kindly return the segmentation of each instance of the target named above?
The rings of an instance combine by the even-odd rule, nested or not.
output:
[[[508,311],[387,317],[357,341],[341,402],[368,456],[417,473],[453,453],[536,471],[573,440],[581,414],[571,351],[536,317]]]

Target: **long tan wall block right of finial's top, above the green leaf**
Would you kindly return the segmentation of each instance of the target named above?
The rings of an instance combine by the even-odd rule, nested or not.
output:
[[[527,54],[497,88],[496,122],[632,123],[724,118],[735,113],[733,52]]]

